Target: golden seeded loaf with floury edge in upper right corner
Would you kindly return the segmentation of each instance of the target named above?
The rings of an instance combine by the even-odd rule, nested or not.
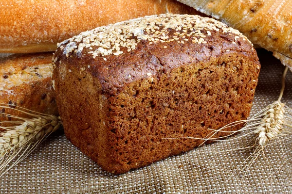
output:
[[[292,70],[292,0],[179,0],[221,19]]]

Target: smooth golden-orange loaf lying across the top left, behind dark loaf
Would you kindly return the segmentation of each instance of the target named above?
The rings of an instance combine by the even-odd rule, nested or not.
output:
[[[168,12],[197,13],[176,0],[0,0],[0,52],[54,51],[80,32]]]

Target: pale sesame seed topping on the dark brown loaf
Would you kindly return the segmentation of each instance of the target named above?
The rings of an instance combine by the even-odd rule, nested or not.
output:
[[[170,34],[167,29],[175,29],[176,33]],[[211,31],[220,30],[223,33],[236,34],[235,41],[239,37],[244,41],[248,40],[239,31],[229,28],[213,18],[197,15],[162,14],[140,17],[82,32],[61,42],[58,47],[65,48],[66,57],[75,53],[80,55],[80,52],[85,52],[85,54],[87,52],[92,54],[92,58],[95,59],[96,56],[123,54],[121,48],[127,48],[129,52],[136,49],[141,40],[148,40],[149,44],[179,40],[178,43],[184,44],[185,41],[189,40],[185,37],[192,36],[193,43],[206,44],[203,38],[206,35],[211,35]],[[234,42],[234,44],[236,43]],[[104,58],[104,60],[107,59]]]

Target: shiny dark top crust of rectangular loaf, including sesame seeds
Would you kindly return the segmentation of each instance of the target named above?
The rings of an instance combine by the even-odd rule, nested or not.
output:
[[[61,74],[89,72],[112,95],[128,82],[235,51],[258,64],[253,45],[237,30],[208,17],[162,14],[82,32],[58,44],[53,65],[65,67]]]

